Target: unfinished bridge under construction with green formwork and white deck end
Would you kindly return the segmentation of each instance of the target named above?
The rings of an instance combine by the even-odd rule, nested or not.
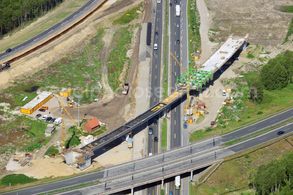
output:
[[[177,90],[171,93],[167,98],[161,100],[157,105],[151,107],[146,112],[140,114],[126,124],[114,129],[110,133],[94,140],[93,142],[79,148],[69,148],[64,153],[66,163],[78,164],[81,170],[91,165],[91,156],[93,151],[101,148],[102,146],[114,141],[115,139],[123,136],[124,134],[132,131],[138,126],[147,122],[147,120],[160,114],[162,111],[167,110],[174,102],[186,95],[190,85],[197,90],[201,88],[206,82],[213,79],[213,74],[219,70],[228,61],[233,54],[246,44],[248,34],[245,37],[236,37],[230,35],[223,45],[202,65],[202,69],[188,70],[188,74],[183,73],[180,79],[177,78]],[[189,78],[190,77],[190,78]]]

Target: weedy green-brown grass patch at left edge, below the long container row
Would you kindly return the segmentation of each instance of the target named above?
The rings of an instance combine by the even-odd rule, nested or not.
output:
[[[1,139],[0,153],[8,148],[32,152],[47,144],[54,136],[45,137],[47,123],[41,120],[33,120],[25,115],[11,115],[11,121],[0,124],[1,133],[8,140]],[[25,128],[27,131],[22,129]],[[26,135],[25,135],[26,134]],[[25,135],[23,137],[23,135]],[[42,141],[42,143],[40,143]]]

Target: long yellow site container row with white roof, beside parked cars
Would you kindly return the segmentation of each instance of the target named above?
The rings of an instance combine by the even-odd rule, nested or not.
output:
[[[32,114],[33,112],[38,110],[39,107],[41,107],[43,104],[49,101],[52,97],[53,97],[52,92],[43,91],[33,100],[31,100],[26,105],[21,107],[20,111],[21,113]]]

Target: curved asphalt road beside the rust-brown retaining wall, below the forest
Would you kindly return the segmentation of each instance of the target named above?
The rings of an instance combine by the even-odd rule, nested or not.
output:
[[[75,12],[73,12],[72,14],[67,16],[67,18],[64,18],[64,19],[60,20],[58,23],[56,23],[52,27],[46,29],[42,33],[36,35],[35,37],[33,37],[33,38],[21,43],[20,45],[17,45],[15,47],[11,48],[12,49],[11,52],[9,52],[9,53],[5,53],[5,52],[1,53],[0,54],[0,60],[3,60],[3,59],[8,58],[8,57],[12,57],[17,52],[21,52],[22,50],[24,50],[24,49],[26,49],[26,48],[28,48],[28,47],[30,47],[32,45],[36,45],[36,44],[38,44],[38,42],[41,42],[46,37],[51,36],[52,34],[57,32],[58,30],[71,25],[72,22],[74,22],[74,20],[76,20],[77,18],[81,17],[85,13],[88,13],[91,10],[92,7],[96,6],[96,4],[100,3],[101,1],[103,1],[103,0],[90,0],[90,1],[86,2],[86,4],[84,4],[78,10],[76,10]]]

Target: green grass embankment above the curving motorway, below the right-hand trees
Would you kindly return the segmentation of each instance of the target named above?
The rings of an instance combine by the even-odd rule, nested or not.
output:
[[[234,98],[234,102],[237,102],[235,104],[237,105],[237,109],[234,110],[226,107],[223,108],[223,113],[225,114],[226,118],[231,118],[229,123],[227,124],[224,122],[223,117],[217,117],[217,119],[219,119],[218,123],[224,125],[223,127],[218,126],[217,128],[207,128],[195,131],[190,135],[190,141],[193,142],[208,136],[221,134],[222,130],[227,132],[232,129],[236,129],[270,114],[284,110],[287,107],[293,106],[293,84],[288,85],[282,90],[264,90],[263,102],[260,104],[254,104],[247,98],[248,88],[245,88],[245,85],[240,84],[241,82],[244,82],[244,79],[245,77],[238,77],[234,80],[234,82],[238,84],[239,88],[244,89],[241,92],[243,93],[243,96]],[[234,90],[234,94],[238,93],[239,91],[241,90]],[[231,96],[234,96],[233,93]]]

